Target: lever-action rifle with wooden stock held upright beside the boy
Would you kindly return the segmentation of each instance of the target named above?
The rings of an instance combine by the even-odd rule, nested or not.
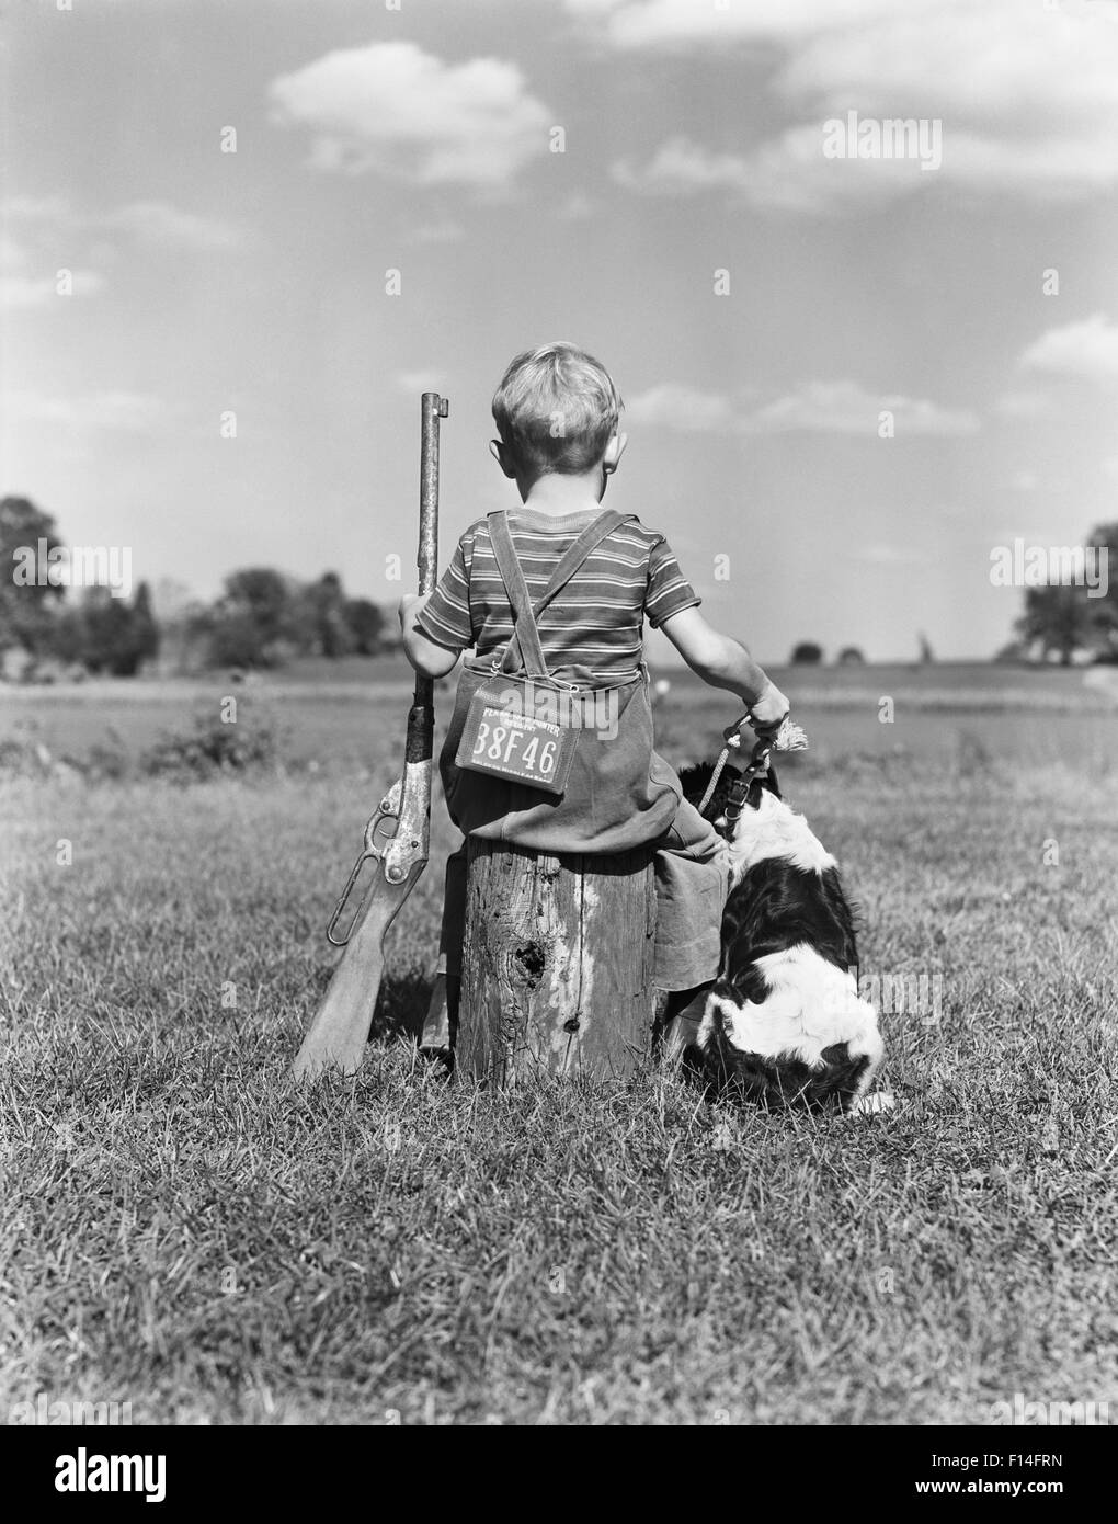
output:
[[[439,419],[448,413],[445,398],[437,392],[423,392],[417,556],[420,593],[434,591],[437,575]],[[408,710],[404,776],[366,826],[364,852],[331,920],[331,940],[358,870],[367,860],[373,860],[376,876],[358,907],[341,959],[295,1056],[295,1079],[314,1079],[326,1068],[355,1074],[361,1067],[384,975],[384,939],[426,867],[433,751],[434,683],[419,674]]]

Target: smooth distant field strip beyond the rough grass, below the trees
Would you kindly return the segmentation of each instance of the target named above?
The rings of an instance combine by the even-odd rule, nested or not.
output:
[[[690,672],[666,672],[672,690],[658,724],[688,756],[708,754],[722,727],[739,718],[730,695],[717,696]],[[955,666],[774,668],[797,715],[810,727],[821,764],[853,751],[906,753],[952,759],[973,735],[982,750],[1014,762],[1045,764],[1072,754],[1092,768],[1113,751],[1118,668],[1091,674],[1057,668]],[[81,757],[91,745],[128,750],[181,730],[195,713],[216,715],[233,695],[267,710],[283,728],[283,756],[320,770],[382,767],[384,745],[407,712],[413,677],[402,660],[359,658],[308,663],[294,671],[175,681],[87,681],[49,689],[0,689],[0,742],[29,736],[53,756]],[[439,684],[439,709],[449,712],[454,678]],[[882,724],[882,700],[894,703]],[[888,710],[885,710],[888,713]],[[388,751],[390,756],[390,751]],[[675,757],[673,757],[675,759]]]

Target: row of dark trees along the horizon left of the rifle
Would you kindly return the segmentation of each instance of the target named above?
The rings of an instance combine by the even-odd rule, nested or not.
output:
[[[146,582],[134,591],[67,588],[52,572],[65,555],[49,514],[29,498],[0,500],[6,668],[134,677],[155,658],[172,671],[271,668],[300,655],[378,655],[396,643],[387,637],[381,608],[367,597],[347,597],[335,572],[300,582],[273,567],[245,567],[230,572],[219,596],[206,604],[166,582],[154,594]]]

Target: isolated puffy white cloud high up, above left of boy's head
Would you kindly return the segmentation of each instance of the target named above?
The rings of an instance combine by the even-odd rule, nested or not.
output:
[[[268,94],[274,122],[312,130],[318,169],[501,192],[547,152],[551,117],[497,58],[446,64],[414,43],[372,43],[282,75]]]

